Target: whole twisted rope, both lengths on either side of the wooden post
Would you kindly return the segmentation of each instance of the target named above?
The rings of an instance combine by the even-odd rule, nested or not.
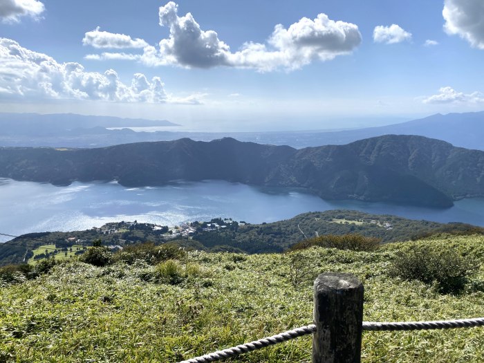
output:
[[[362,327],[364,331],[419,331],[424,329],[472,328],[474,326],[484,326],[484,317],[477,317],[475,319],[435,320],[430,322],[363,322]],[[223,351],[216,351],[214,353],[201,355],[201,357],[183,360],[179,363],[216,362],[217,360],[223,360],[242,353],[256,351],[257,349],[265,348],[266,346],[286,342],[290,339],[313,334],[315,332],[315,324],[309,324],[308,326],[292,329],[292,331],[285,331],[281,334],[272,335],[272,337],[254,340],[254,342],[240,344],[232,348],[223,349]]]

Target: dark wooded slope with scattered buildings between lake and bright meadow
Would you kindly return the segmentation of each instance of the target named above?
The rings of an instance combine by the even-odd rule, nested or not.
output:
[[[211,228],[205,231],[208,223],[218,223],[225,227]],[[76,243],[90,246],[96,239],[102,239],[104,245],[129,245],[151,241],[165,243],[174,241],[185,247],[207,252],[245,252],[274,253],[287,250],[291,245],[305,239],[305,236],[322,236],[324,234],[362,234],[376,237],[382,243],[408,241],[441,232],[452,234],[484,234],[483,227],[465,223],[437,223],[416,221],[385,214],[368,214],[351,210],[328,210],[325,212],[308,212],[299,214],[284,221],[262,224],[225,223],[221,218],[208,222],[187,223],[179,227],[178,232],[192,227],[195,231],[190,236],[176,236],[167,232],[168,227],[153,230],[155,225],[149,223],[107,223],[101,228],[71,232],[42,232],[19,236],[6,243],[0,243],[0,266],[9,263],[32,261],[34,254],[45,252],[38,250],[41,245],[48,245],[48,252],[62,259],[65,252],[71,252]],[[108,233],[109,232],[109,233]],[[44,247],[45,248],[45,247]],[[66,251],[67,248],[67,251]],[[57,249],[57,254],[54,250]],[[35,252],[37,251],[37,252]],[[76,252],[76,251],[74,251]],[[68,256],[71,254],[68,253]]]

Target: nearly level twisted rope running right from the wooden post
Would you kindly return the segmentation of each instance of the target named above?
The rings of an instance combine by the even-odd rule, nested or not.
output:
[[[435,320],[433,322],[363,322],[364,331],[420,331],[429,329],[472,328],[484,326],[484,317],[476,319]]]

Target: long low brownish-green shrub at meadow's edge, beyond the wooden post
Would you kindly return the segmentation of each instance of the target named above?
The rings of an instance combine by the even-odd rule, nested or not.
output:
[[[361,234],[325,234],[324,236],[313,239],[305,239],[290,247],[290,251],[305,250],[313,246],[324,248],[337,248],[338,250],[352,251],[373,251],[380,246],[380,239],[375,237],[366,237]]]

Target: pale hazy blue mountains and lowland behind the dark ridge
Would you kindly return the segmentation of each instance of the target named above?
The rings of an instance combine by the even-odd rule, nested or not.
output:
[[[130,142],[191,138],[210,141],[232,137],[241,141],[289,145],[296,149],[348,142],[387,134],[419,135],[450,142],[454,146],[484,150],[484,111],[431,115],[420,120],[382,127],[344,131],[274,131],[210,133],[184,131],[135,132],[111,127],[157,127],[176,125],[169,121],[109,118],[74,114],[38,115],[0,113],[0,146],[104,147]],[[169,127],[167,128],[169,129]]]

